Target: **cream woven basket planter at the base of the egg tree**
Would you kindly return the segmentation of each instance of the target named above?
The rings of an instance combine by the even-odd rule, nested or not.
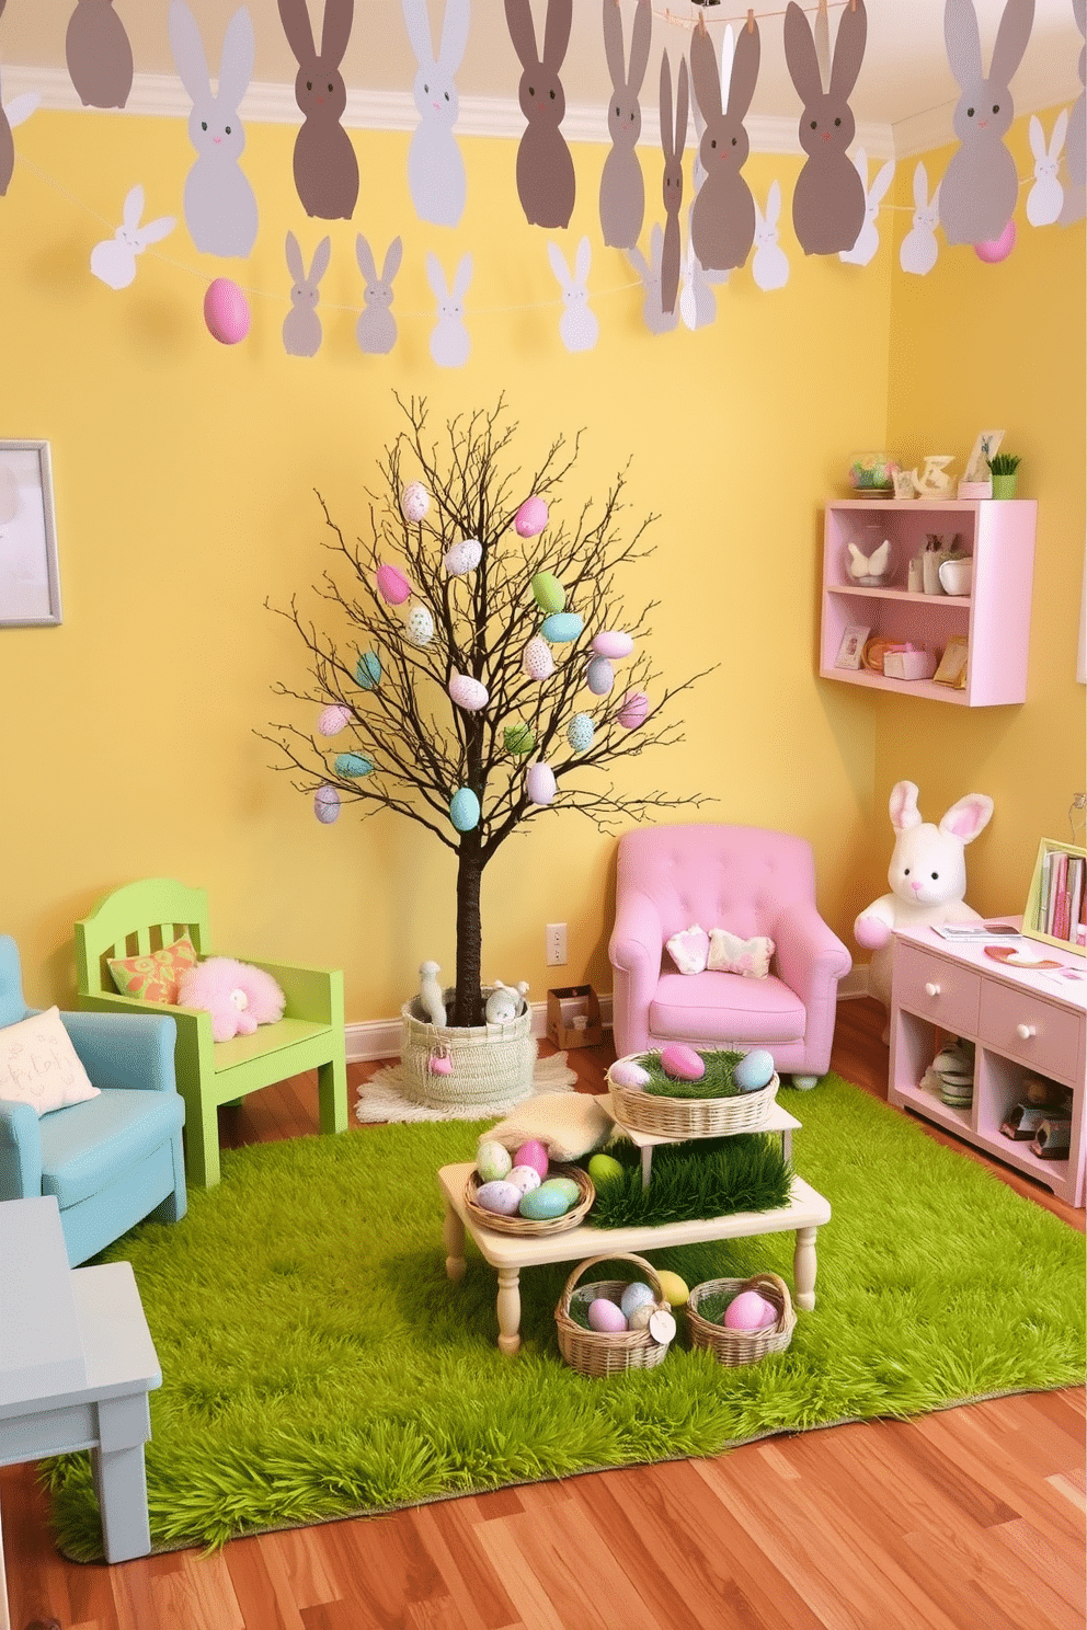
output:
[[[484,998],[489,994],[484,991]],[[445,1001],[453,1006],[451,989]],[[404,1002],[401,1017],[401,1082],[412,1102],[433,1110],[477,1108],[482,1117],[500,1115],[531,1097],[536,1038],[528,1006],[508,1024],[453,1029],[430,1024],[414,998]],[[448,1073],[435,1073],[433,1058],[447,1058]]]

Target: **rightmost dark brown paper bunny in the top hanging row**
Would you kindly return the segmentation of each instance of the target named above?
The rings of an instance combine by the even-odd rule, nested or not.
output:
[[[847,98],[860,73],[867,33],[864,0],[851,0],[838,20],[825,91],[808,20],[795,0],[786,8],[786,62],[803,99],[800,147],[808,155],[792,192],[792,225],[805,254],[852,249],[864,227],[865,194],[846,150],[857,129]]]

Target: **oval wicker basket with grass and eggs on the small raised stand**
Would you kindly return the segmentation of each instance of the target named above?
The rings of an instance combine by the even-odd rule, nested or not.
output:
[[[608,1071],[611,1107],[621,1126],[662,1138],[725,1138],[758,1131],[777,1097],[777,1071],[766,1048],[696,1051],[670,1042],[660,1053],[629,1053]]]

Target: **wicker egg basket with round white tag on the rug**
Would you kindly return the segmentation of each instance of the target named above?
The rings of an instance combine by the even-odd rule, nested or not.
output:
[[[579,1284],[601,1262],[629,1262],[639,1278]],[[670,1281],[686,1289],[676,1275],[658,1271],[644,1257],[616,1252],[579,1262],[554,1311],[559,1351],[567,1364],[583,1376],[618,1376],[662,1364],[676,1333]]]

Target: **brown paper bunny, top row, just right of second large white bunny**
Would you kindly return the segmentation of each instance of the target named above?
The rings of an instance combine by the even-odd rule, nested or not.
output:
[[[543,52],[528,0],[505,0],[505,21],[521,64],[518,98],[528,119],[517,148],[517,192],[530,227],[569,227],[574,214],[574,160],[559,126],[566,95],[559,68],[570,42],[574,0],[548,0]]]

